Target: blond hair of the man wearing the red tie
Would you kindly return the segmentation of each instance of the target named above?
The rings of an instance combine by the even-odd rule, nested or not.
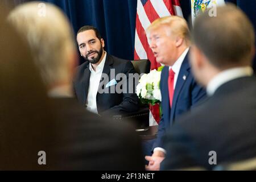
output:
[[[167,26],[170,28],[170,33],[172,35],[180,36],[185,40],[187,46],[190,44],[190,33],[186,20],[179,16],[164,16],[163,18],[158,18],[150,24],[146,29],[146,33],[150,33],[152,30],[160,28],[162,26]]]

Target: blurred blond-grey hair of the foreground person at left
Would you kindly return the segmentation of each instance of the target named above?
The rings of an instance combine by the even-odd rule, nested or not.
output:
[[[27,39],[47,86],[70,79],[68,57],[75,51],[75,43],[60,9],[49,3],[24,3],[11,11],[9,20]]]

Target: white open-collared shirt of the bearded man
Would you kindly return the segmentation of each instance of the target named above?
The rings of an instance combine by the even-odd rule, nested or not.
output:
[[[98,93],[98,85],[100,84],[105,61],[106,61],[106,52],[101,63],[96,67],[96,71],[93,70],[92,64],[89,64],[90,83],[89,83],[89,89],[88,89],[88,96],[86,100],[86,109],[96,114],[98,114],[97,101],[96,101],[96,97]]]

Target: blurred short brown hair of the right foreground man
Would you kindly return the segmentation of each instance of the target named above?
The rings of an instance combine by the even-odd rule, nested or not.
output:
[[[192,42],[217,68],[251,64],[255,35],[250,20],[231,4],[216,12],[210,16],[208,10],[195,19]]]

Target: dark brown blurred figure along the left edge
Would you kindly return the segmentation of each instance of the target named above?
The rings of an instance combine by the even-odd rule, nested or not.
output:
[[[0,170],[51,169],[56,130],[47,90],[6,16],[0,6]],[[39,165],[40,151],[47,165]]]

